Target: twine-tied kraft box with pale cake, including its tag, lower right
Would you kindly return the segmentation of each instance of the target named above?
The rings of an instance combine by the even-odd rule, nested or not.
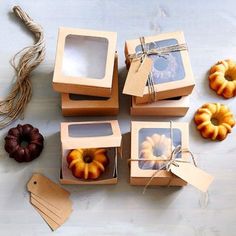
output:
[[[214,179],[197,167],[189,150],[188,123],[131,122],[130,163],[133,185],[184,186],[189,183],[206,192]]]

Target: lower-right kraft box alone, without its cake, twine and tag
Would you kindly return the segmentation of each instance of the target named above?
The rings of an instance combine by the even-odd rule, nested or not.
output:
[[[187,123],[172,123],[173,130],[173,145],[182,145],[183,149],[188,149],[189,146],[189,133]],[[150,166],[144,167],[140,161],[132,161],[140,158],[141,144],[146,137],[151,137],[154,133],[158,135],[170,136],[170,123],[169,122],[131,122],[131,161],[130,161],[130,183],[132,185],[146,185],[152,178],[156,169],[151,169]],[[161,140],[165,140],[162,136]],[[169,137],[170,138],[170,137]],[[160,141],[161,142],[161,141]],[[167,143],[167,141],[165,141]],[[182,159],[188,159],[187,153],[182,153]],[[147,162],[148,164],[148,162]],[[143,168],[143,169],[142,169]],[[152,179],[149,185],[159,186],[184,186],[187,183],[166,170],[160,170]]]

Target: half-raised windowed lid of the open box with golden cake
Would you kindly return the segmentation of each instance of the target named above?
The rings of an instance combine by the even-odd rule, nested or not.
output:
[[[121,132],[117,120],[62,122],[61,142],[65,149],[119,147]]]

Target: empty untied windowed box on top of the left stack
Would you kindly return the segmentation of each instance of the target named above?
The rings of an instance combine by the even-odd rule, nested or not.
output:
[[[78,38],[75,38],[78,37]],[[113,74],[113,65],[114,65],[114,55],[116,51],[116,38],[117,33],[116,32],[108,32],[108,31],[95,31],[95,30],[87,30],[87,29],[73,29],[73,28],[60,28],[59,34],[58,34],[58,43],[57,43],[57,53],[56,53],[56,60],[55,60],[55,69],[54,69],[54,76],[53,76],[53,88],[54,90],[58,92],[73,92],[78,94],[85,94],[85,95],[91,95],[87,94],[86,91],[90,87],[96,87],[100,89],[102,88],[111,88],[112,86],[112,74]],[[82,40],[81,42],[78,41],[78,39]],[[89,39],[89,40],[88,40]],[[66,53],[66,42],[67,40],[70,43],[75,44],[73,48],[68,48],[68,53]],[[102,40],[102,41],[101,41]],[[84,57],[85,60],[88,59],[87,57],[89,52],[85,53],[85,49],[88,50],[99,50],[99,48],[94,48],[92,45],[96,42],[101,42],[101,45],[105,44],[106,42],[106,53],[99,53],[98,51],[90,52],[91,53],[91,67],[93,68],[95,63],[95,56],[92,55],[92,53],[95,53],[96,58],[102,56],[104,58],[104,71],[103,72],[93,72],[89,73],[87,68],[87,65],[83,65],[83,62],[75,63],[75,58],[77,58],[77,54],[79,50],[82,50],[79,54],[81,57]],[[103,42],[104,41],[104,42]],[[76,43],[77,42],[77,43]],[[88,45],[88,42],[90,42],[90,46]],[[77,45],[78,44],[78,45]],[[104,45],[103,45],[104,46]],[[84,49],[85,47],[85,49]],[[105,46],[104,46],[105,47]],[[104,49],[105,50],[105,49]],[[69,61],[64,60],[64,57],[70,58]],[[73,60],[72,60],[73,59]],[[71,61],[72,60],[72,61]],[[72,63],[73,62],[73,63]],[[97,59],[96,59],[97,62]],[[89,61],[90,63],[90,61]],[[76,66],[75,66],[76,65]],[[70,69],[70,67],[74,69]],[[101,67],[101,66],[100,66]],[[99,68],[100,68],[99,67]],[[66,71],[65,71],[65,68]],[[70,72],[68,72],[69,70]],[[75,70],[76,74],[73,74],[72,71]],[[80,72],[78,72],[78,70]],[[87,72],[85,72],[87,71]],[[69,74],[68,74],[69,73]],[[71,74],[72,73],[72,74]],[[79,74],[77,74],[79,73]],[[82,74],[80,74],[82,73]],[[99,79],[96,78],[95,74],[99,73]],[[89,91],[91,93],[91,91]],[[93,91],[94,93],[94,91]],[[92,94],[93,94],[92,93]],[[96,93],[96,90],[95,90]],[[97,96],[104,96],[108,97],[108,94],[103,94],[104,92],[101,92],[96,94]],[[110,94],[109,94],[110,96]]]

